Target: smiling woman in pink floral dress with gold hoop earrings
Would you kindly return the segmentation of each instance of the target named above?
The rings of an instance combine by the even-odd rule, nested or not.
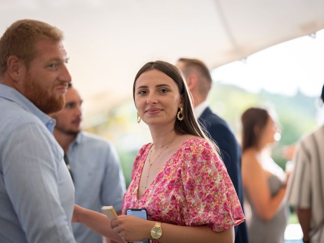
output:
[[[144,208],[148,220],[121,215],[110,222],[75,206],[73,221],[119,242],[234,242],[244,214],[217,147],[195,119],[181,72],[148,62],[135,77],[133,95],[137,120],[148,125],[153,143],[136,156],[123,213]]]

